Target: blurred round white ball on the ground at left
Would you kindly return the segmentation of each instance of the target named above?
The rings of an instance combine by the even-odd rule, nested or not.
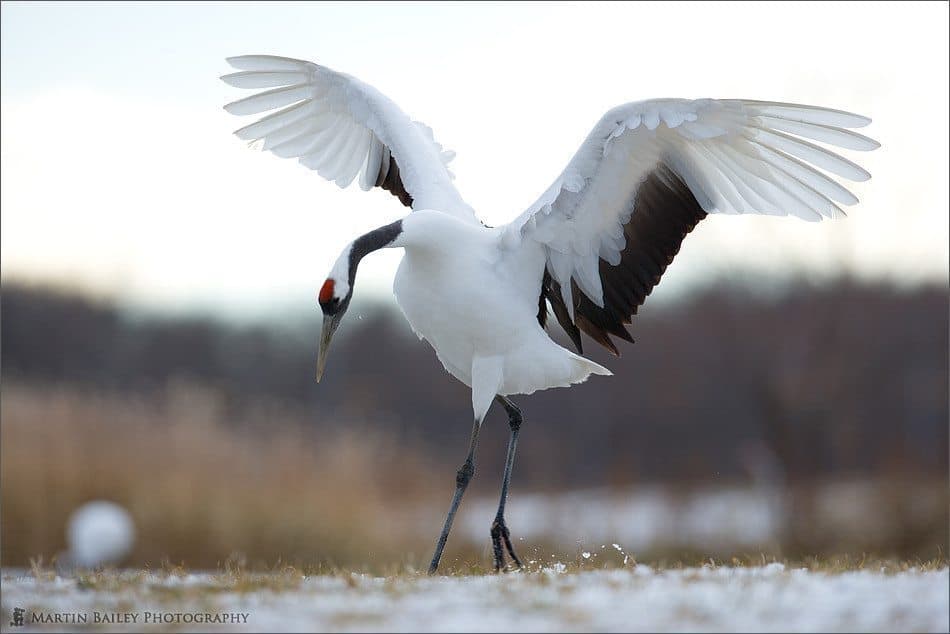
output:
[[[117,564],[132,550],[135,526],[128,512],[97,500],[77,509],[66,532],[72,563],[81,568]]]

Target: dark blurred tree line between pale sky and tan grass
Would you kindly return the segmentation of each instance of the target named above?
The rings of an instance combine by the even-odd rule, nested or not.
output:
[[[327,429],[384,426],[450,466],[451,480],[469,392],[395,310],[351,309],[319,385],[319,311],[289,323],[134,315],[5,283],[2,376],[119,393],[195,382],[222,396],[236,424],[279,425],[260,415],[273,403]],[[945,287],[841,279],[763,297],[720,283],[648,305],[631,332],[620,359],[585,339],[615,377],[515,399],[526,416],[516,486],[946,476]],[[489,415],[481,473],[500,473],[503,421]]]

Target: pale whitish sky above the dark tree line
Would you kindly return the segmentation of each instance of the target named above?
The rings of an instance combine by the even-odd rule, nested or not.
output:
[[[946,3],[2,4],[3,279],[167,312],[313,310],[339,252],[404,215],[249,149],[224,58],[299,57],[376,86],[458,155],[463,197],[514,218],[609,108],[654,97],[791,101],[874,121],[845,220],[713,217],[654,293],[709,276],[909,283],[948,269]],[[389,294],[399,258],[360,268]],[[651,299],[651,301],[655,301]],[[389,300],[387,300],[389,301]]]

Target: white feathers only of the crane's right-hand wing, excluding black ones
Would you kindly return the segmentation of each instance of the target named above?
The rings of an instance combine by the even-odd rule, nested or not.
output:
[[[850,150],[879,144],[847,128],[860,115],[749,100],[655,99],[608,112],[548,190],[504,229],[504,244],[543,245],[573,318],[571,279],[603,307],[599,259],[620,262],[623,225],[640,183],[665,163],[706,213],[844,215],[857,198],[821,168],[851,181],[870,174],[806,139]]]

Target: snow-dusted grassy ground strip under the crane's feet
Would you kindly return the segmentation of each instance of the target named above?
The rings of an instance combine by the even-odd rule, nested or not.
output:
[[[948,569],[886,573],[763,567],[566,571],[429,578],[122,573],[3,575],[4,630],[948,631]],[[118,625],[96,624],[103,617]],[[128,615],[128,616],[126,616]],[[134,620],[133,620],[134,617]],[[70,620],[71,619],[71,620]],[[154,621],[158,619],[159,625]],[[236,624],[208,625],[227,619]]]

